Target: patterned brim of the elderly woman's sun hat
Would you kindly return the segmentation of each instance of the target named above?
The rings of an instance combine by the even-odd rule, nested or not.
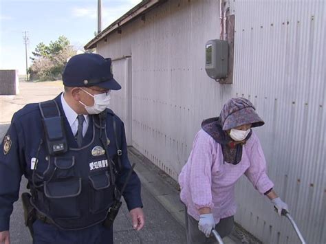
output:
[[[227,131],[243,124],[252,124],[252,127],[265,124],[259,115],[251,107],[247,107],[232,113],[226,118],[223,124],[223,130]]]

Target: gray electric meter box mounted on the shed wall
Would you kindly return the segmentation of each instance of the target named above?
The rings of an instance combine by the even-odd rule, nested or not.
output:
[[[205,70],[215,80],[228,77],[228,42],[210,40],[206,43]]]

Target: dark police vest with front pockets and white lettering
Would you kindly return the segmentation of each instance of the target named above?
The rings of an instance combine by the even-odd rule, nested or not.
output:
[[[67,151],[48,155],[46,162],[39,162],[34,169],[32,205],[65,230],[104,221],[117,194],[113,162],[103,148],[108,142],[106,123],[101,129],[96,118],[90,116],[81,148],[69,144],[74,138],[65,128]]]

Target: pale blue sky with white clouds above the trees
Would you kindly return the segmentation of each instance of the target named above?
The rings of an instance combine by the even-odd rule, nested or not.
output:
[[[102,30],[141,0],[102,0]],[[66,36],[77,49],[97,31],[97,0],[0,0],[0,69],[26,74],[24,32],[28,36],[28,67],[37,44]]]

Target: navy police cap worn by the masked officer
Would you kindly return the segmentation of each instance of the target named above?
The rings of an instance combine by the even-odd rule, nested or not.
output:
[[[99,54],[78,54],[70,58],[63,70],[63,85],[121,89],[113,78],[111,58],[103,58]]]

